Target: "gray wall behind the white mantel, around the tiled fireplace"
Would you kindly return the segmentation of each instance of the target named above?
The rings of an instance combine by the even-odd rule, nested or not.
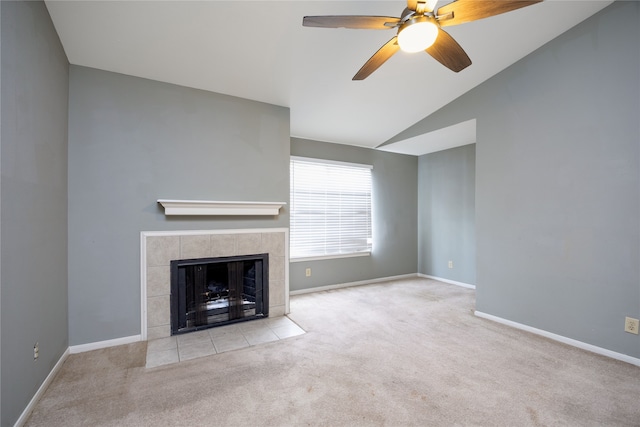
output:
[[[169,217],[157,199],[289,200],[289,110],[72,66],[69,341],[140,334],[140,232],[288,227]]]

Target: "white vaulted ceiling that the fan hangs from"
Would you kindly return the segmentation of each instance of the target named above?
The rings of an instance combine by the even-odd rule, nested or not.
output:
[[[303,16],[400,16],[404,1],[46,0],[72,64],[289,107],[291,136],[365,147],[610,3],[546,0],[447,27],[473,61],[467,69],[454,73],[425,53],[399,52],[354,82],[395,30],[307,28]]]

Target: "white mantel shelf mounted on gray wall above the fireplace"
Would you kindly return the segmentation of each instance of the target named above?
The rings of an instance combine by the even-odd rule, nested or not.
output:
[[[278,215],[285,202],[219,202],[158,199],[169,215]]]

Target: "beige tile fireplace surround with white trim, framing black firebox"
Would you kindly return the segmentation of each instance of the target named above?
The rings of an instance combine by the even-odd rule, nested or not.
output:
[[[289,312],[289,230],[286,228],[140,233],[142,339],[171,336],[170,261],[269,254],[269,317]]]

